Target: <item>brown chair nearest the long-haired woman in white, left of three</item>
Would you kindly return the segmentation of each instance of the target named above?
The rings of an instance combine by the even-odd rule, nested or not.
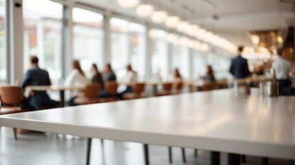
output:
[[[99,91],[101,91],[101,85],[99,83],[85,85],[83,90],[83,96],[74,100],[76,104],[94,104],[99,102]]]

